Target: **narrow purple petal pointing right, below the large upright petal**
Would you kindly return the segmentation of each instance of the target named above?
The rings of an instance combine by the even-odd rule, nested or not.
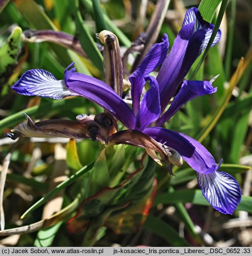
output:
[[[164,124],[182,107],[182,105],[192,100],[194,97],[213,94],[216,91],[217,88],[214,88],[212,83],[208,81],[184,81],[169,109],[157,120],[157,126]]]

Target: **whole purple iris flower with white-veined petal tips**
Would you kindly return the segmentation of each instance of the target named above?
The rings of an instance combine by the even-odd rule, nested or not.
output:
[[[129,77],[132,109],[106,83],[75,72],[75,68],[68,70],[72,64],[66,68],[64,80],[57,80],[44,70],[29,70],[12,88],[22,95],[53,99],[83,96],[94,101],[128,129],[143,132],[158,143],[175,149],[196,170],[202,193],[213,208],[224,214],[233,214],[241,201],[238,182],[229,174],[218,171],[220,165],[198,141],[184,133],[161,128],[187,101],[217,91],[208,81],[183,80],[194,60],[208,44],[213,27],[202,19],[196,8],[192,8],[186,13],[182,29],[168,55],[167,35],[164,35],[161,43],[153,45]],[[220,37],[219,30],[213,45]],[[154,78],[150,74],[158,66],[161,68],[157,78]],[[150,88],[142,95],[147,82]],[[170,107],[166,110],[168,104]]]

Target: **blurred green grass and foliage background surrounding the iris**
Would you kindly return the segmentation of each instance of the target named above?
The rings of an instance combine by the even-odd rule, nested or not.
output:
[[[6,155],[11,152],[6,183],[1,179],[0,184],[5,213],[1,225],[7,230],[0,245],[252,246],[249,1],[226,1],[221,42],[209,50],[194,74],[199,80],[220,74],[214,82],[217,93],[190,101],[167,124],[169,129],[199,140],[217,162],[223,159],[221,170],[237,178],[243,198],[234,216],[216,212],[206,202],[198,190],[196,173],[186,164],[174,168],[175,176],[169,176],[165,166],[158,166],[142,149],[132,146],[104,149],[90,140],[57,138],[19,139],[13,144],[4,136],[25,120],[22,112],[35,120],[75,120],[80,113],[101,112],[99,106],[81,97],[59,101],[26,97],[15,94],[10,86],[32,68],[63,79],[64,68],[71,62],[79,72],[102,80],[103,56],[95,34],[111,30],[125,52],[147,30],[158,2],[0,1],[0,170],[5,169]],[[186,9],[200,5],[203,17],[215,23],[222,1],[166,3],[157,42],[166,33],[172,46]],[[22,32],[28,29],[67,32],[78,42],[79,51],[60,46],[57,38],[55,42],[27,42],[29,34],[25,38]],[[134,58],[136,55],[129,56],[128,70]],[[188,78],[196,66],[194,63]],[[31,225],[30,230],[26,225]]]

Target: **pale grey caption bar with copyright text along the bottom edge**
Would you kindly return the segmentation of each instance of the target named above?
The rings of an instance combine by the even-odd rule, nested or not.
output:
[[[243,255],[252,256],[252,247],[0,247],[0,255]]]

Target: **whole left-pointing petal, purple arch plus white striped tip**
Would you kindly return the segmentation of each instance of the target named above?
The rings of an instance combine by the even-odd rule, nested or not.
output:
[[[68,66],[67,68],[71,67]],[[136,117],[129,106],[106,83],[80,73],[75,68],[65,71],[64,80],[57,80],[45,70],[29,70],[11,87],[22,95],[63,99],[67,96],[84,96],[111,112],[126,127],[133,129]]]

